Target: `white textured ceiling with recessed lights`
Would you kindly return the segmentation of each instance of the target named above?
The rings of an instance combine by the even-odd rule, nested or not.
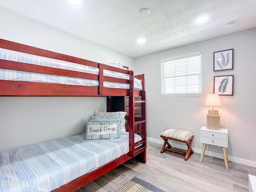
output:
[[[81,0],[78,6],[0,0],[0,6],[134,58],[256,27],[256,0]],[[142,8],[150,14],[140,15]],[[196,24],[202,15],[208,22]],[[145,44],[137,44],[140,37]]]

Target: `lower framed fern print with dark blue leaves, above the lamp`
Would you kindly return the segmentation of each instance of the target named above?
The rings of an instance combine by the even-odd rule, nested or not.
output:
[[[234,75],[214,76],[214,94],[233,95]]]

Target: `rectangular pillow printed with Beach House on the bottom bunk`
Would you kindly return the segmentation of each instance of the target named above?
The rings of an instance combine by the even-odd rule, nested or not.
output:
[[[119,120],[101,123],[85,122],[84,140],[120,138],[119,124]]]

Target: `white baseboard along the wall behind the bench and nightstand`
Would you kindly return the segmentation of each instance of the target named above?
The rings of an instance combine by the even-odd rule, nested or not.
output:
[[[159,144],[159,146],[162,146],[164,144],[163,140],[154,139],[154,138],[150,138],[150,137],[147,137],[147,141],[148,142],[153,142],[155,144]],[[184,146],[184,145],[176,144],[176,143],[172,143],[172,146],[175,147],[175,148],[184,149],[184,150],[188,149],[186,145]],[[197,149],[197,148],[193,148],[193,150],[194,150],[195,153],[199,153],[199,154],[201,154],[201,151],[202,151],[202,149]],[[205,151],[204,154],[208,155],[208,156],[223,159],[223,154],[222,153],[214,153],[214,152],[210,152],[210,151]],[[256,167],[256,162],[255,161],[250,161],[250,160],[241,159],[241,158],[232,157],[232,156],[228,156],[228,160],[230,160],[232,162],[236,162],[236,163]]]

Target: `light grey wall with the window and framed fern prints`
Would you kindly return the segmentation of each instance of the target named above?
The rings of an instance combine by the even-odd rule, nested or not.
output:
[[[256,28],[220,36],[135,59],[135,71],[146,74],[147,136],[161,140],[168,128],[194,132],[193,147],[201,149],[200,128],[206,125],[206,96],[213,92],[214,76],[234,75],[234,96],[220,96],[220,126],[228,128],[228,156],[256,162],[255,135]],[[213,72],[213,52],[234,48],[234,70]],[[202,52],[202,97],[161,98],[160,60]],[[222,153],[216,146],[206,150]]]

